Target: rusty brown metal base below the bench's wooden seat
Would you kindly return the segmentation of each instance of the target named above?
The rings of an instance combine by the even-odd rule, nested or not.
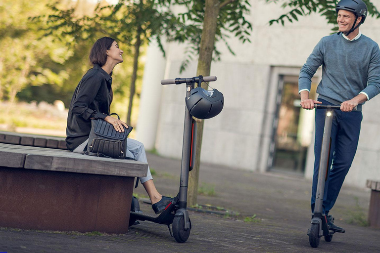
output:
[[[0,167],[0,226],[126,233],[134,177]]]

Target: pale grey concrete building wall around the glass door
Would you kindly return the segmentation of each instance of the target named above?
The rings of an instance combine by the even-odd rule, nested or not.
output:
[[[375,0],[380,6],[380,0]],[[280,4],[252,0],[249,21],[253,25],[250,37],[252,43],[241,44],[232,38],[229,44],[236,55],[229,53],[223,43],[217,46],[222,52],[222,60],[213,62],[211,75],[217,76],[210,85],[222,91],[225,106],[220,115],[205,120],[201,161],[227,165],[232,168],[266,171],[273,138],[273,120],[280,75],[298,76],[314,46],[331,33],[331,26],[317,14],[300,17],[298,22],[269,26],[271,19],[285,13]],[[380,42],[380,22],[368,17],[362,33]],[[154,45],[151,46],[155,50]],[[185,45],[166,45],[165,68],[160,69],[163,78],[192,77],[196,73],[196,62],[191,62],[184,73],[179,67],[185,57]],[[147,61],[160,61],[157,55],[148,52]],[[157,69],[148,70],[145,76],[159,76]],[[316,80],[320,80],[320,71]],[[146,82],[145,85],[159,85]],[[137,127],[137,136],[151,136],[154,132],[154,147],[166,157],[181,157],[183,123],[185,112],[185,85],[165,85],[159,94],[160,102],[151,103],[154,110],[146,110]],[[149,90],[149,89],[147,89]],[[143,92],[144,89],[143,89]],[[142,94],[143,96],[145,94]],[[158,94],[157,94],[158,95]],[[380,180],[380,97],[365,105],[362,133],[357,156],[349,172],[346,183],[364,187],[366,179]],[[155,119],[153,114],[157,114]],[[151,117],[149,116],[151,115]],[[141,116],[140,116],[141,117]],[[152,120],[153,119],[153,120]],[[152,122],[154,121],[154,122]],[[156,126],[156,127],[155,127]],[[150,143],[152,143],[150,141]],[[305,177],[311,178],[313,170],[313,143],[308,151]]]

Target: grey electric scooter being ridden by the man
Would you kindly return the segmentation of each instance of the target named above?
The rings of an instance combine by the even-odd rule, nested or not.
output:
[[[316,109],[326,109],[325,127],[322,139],[321,158],[319,162],[317,192],[315,196],[315,208],[311,218],[310,228],[307,231],[310,246],[317,248],[322,236],[326,242],[332,241],[332,235],[335,231],[329,230],[327,217],[323,213],[323,196],[325,191],[325,182],[329,172],[330,150],[331,150],[331,129],[333,110],[340,110],[340,105],[321,105],[314,104]],[[356,110],[356,107],[354,108]]]

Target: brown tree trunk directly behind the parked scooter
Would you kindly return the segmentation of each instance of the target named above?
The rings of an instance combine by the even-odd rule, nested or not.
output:
[[[212,52],[214,50],[216,26],[220,11],[220,0],[206,0],[202,38],[200,40],[198,66],[196,75],[204,77],[210,75]],[[202,83],[202,87],[207,89],[207,85]],[[195,164],[192,171],[189,173],[189,188],[188,188],[188,206],[196,204],[198,195],[198,180],[199,180],[199,164],[200,150],[202,146],[203,135],[203,120],[197,120],[196,131],[196,147],[195,147]]]

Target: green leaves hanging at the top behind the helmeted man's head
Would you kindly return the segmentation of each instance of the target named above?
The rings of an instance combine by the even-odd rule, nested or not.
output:
[[[278,0],[267,0],[268,2],[278,2]],[[368,7],[368,13],[370,16],[380,17],[380,13],[376,6],[370,0],[363,0]],[[282,4],[283,8],[290,8],[286,14],[281,15],[278,19],[272,19],[269,24],[281,23],[285,25],[285,20],[292,23],[293,20],[298,21],[299,16],[307,16],[311,13],[320,13],[324,16],[329,24],[334,24],[332,31],[337,31],[336,24],[336,11],[335,6],[339,0],[288,0]]]

